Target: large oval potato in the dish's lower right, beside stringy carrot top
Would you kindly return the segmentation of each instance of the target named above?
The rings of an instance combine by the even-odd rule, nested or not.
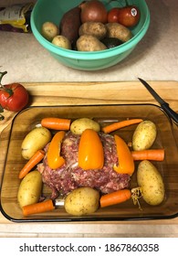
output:
[[[162,176],[150,161],[141,161],[137,171],[137,182],[147,204],[156,206],[162,203],[165,194]]]

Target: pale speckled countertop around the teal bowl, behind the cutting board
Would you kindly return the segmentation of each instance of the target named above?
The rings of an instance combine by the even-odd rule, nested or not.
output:
[[[8,72],[4,83],[115,81],[137,80],[138,77],[144,80],[178,80],[178,1],[146,2],[151,12],[147,34],[127,59],[110,69],[81,71],[65,67],[50,56],[33,34],[0,31],[0,70]]]

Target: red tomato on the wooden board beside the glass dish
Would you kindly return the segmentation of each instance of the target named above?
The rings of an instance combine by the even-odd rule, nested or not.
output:
[[[19,112],[28,102],[28,92],[20,83],[12,83],[1,86],[0,105],[3,109]]]

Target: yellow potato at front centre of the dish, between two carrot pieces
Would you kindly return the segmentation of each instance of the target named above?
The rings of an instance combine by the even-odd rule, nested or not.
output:
[[[79,187],[68,194],[64,207],[74,216],[83,216],[99,208],[99,191],[91,187]]]

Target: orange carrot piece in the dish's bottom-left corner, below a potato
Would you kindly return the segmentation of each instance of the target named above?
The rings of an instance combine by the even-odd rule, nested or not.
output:
[[[53,201],[51,199],[48,199],[47,201],[24,206],[22,208],[22,211],[24,216],[28,216],[30,214],[50,211],[50,210],[53,210],[54,208],[55,207],[53,205]]]

